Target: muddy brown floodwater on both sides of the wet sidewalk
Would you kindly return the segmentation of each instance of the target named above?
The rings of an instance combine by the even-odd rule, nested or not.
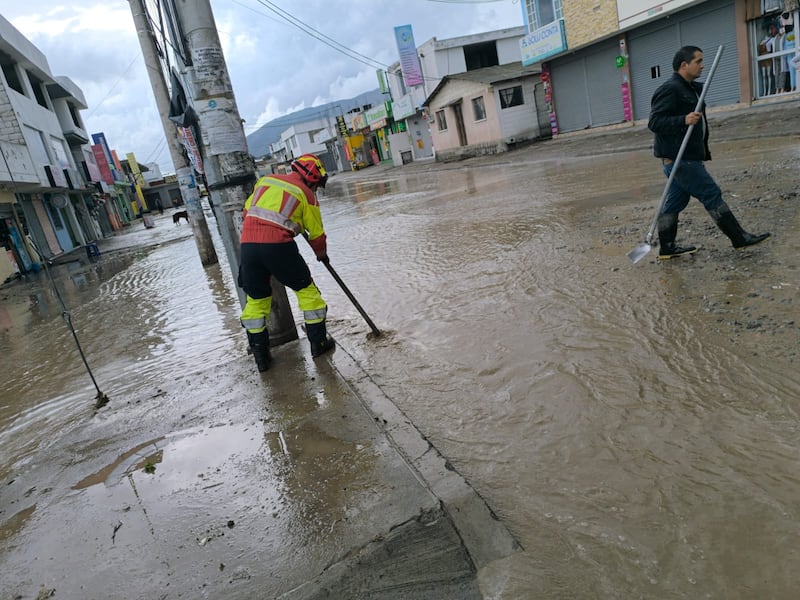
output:
[[[304,247],[330,331],[520,542],[487,597],[796,597],[800,152],[714,150],[742,225],[773,237],[735,251],[693,201],[678,241],[702,247],[663,264],[626,257],[663,190],[647,150],[330,180],[331,263],[386,335]],[[227,265],[184,234],[62,269],[113,396],[244,349]],[[52,294],[2,310],[5,480],[92,388]]]

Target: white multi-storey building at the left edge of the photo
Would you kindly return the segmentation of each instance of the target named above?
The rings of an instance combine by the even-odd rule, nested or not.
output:
[[[0,16],[0,281],[100,237],[110,224],[91,184],[99,172],[81,90]],[[98,178],[99,179],[99,178]]]

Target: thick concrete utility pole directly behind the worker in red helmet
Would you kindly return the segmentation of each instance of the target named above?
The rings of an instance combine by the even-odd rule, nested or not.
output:
[[[236,281],[241,258],[242,207],[257,179],[255,165],[247,148],[211,3],[172,0],[172,5],[183,36],[173,43],[186,47],[191,61],[185,66],[193,88],[194,109],[200,116],[209,193],[215,206],[221,209],[217,211],[217,223]],[[274,277],[270,284],[272,312],[267,327],[270,343],[275,346],[296,340],[298,335],[286,289]],[[241,292],[239,300],[244,300]]]

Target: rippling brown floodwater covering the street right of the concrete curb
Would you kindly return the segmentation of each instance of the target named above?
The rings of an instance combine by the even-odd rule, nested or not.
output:
[[[712,172],[796,160],[749,146]],[[348,350],[526,549],[491,597],[796,597],[797,219],[740,258],[695,202],[711,248],[633,266],[646,152],[331,187],[332,260],[393,332]]]

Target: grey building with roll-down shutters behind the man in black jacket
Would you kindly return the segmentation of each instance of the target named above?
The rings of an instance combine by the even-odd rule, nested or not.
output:
[[[724,51],[710,107],[797,92],[798,0],[523,0],[523,65],[542,63],[558,133],[648,118],[672,57]]]

